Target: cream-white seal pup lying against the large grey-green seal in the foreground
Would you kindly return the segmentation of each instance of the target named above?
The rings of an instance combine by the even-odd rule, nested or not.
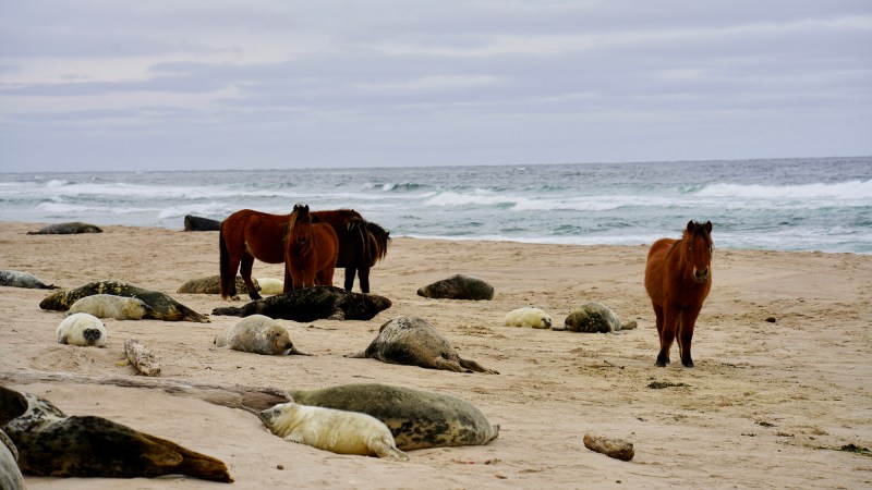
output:
[[[390,429],[377,418],[360,412],[289,402],[267,408],[259,416],[270,432],[289,442],[337,454],[409,461],[409,456],[397,449]]]

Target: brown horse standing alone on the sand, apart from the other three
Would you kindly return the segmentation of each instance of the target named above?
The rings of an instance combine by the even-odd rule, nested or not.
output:
[[[712,222],[690,221],[681,240],[661,238],[647,253],[645,290],[654,306],[661,352],[657,366],[669,364],[678,339],[681,364],[693,367],[690,341],[702,304],[712,289]]]

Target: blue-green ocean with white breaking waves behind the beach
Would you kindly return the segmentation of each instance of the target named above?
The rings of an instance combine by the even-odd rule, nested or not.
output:
[[[250,208],[353,208],[391,236],[872,253],[872,157],[154,172],[0,172],[0,221],[183,228]]]

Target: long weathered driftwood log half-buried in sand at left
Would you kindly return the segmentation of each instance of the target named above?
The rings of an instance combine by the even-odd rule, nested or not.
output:
[[[158,378],[90,377],[69,372],[13,371],[0,372],[0,384],[74,383],[113,384],[122,388],[149,388],[177,395],[189,395],[215,405],[241,408],[253,414],[279,403],[290,402],[284,390],[242,387],[239,384],[201,384]]]

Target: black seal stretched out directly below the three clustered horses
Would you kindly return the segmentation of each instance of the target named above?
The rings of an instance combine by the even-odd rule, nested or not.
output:
[[[376,294],[353,293],[336,286],[312,286],[253,301],[242,307],[215,308],[213,315],[247,317],[266,315],[293,321],[371,320],[390,308],[390,299]]]

